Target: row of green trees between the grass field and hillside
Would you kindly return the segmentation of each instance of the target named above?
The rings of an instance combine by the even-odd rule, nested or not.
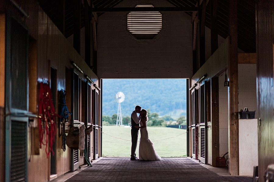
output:
[[[159,117],[157,112],[150,113],[150,109],[148,112],[148,121],[147,126],[168,126],[168,125],[186,125],[185,116],[180,116],[177,120],[173,119],[170,115],[164,115],[163,117]],[[116,125],[117,114],[113,114],[111,117],[108,115],[103,115],[102,117],[103,125]],[[131,117],[124,116],[122,117],[123,125],[131,125]]]

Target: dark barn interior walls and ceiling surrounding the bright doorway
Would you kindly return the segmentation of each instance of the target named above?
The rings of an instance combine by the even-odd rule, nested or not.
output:
[[[0,181],[51,181],[101,157],[108,78],[187,79],[187,156],[218,167],[228,152],[231,176],[255,169],[266,181],[273,9],[266,0],[0,0]],[[92,128],[85,149],[69,148],[65,136],[81,126]]]

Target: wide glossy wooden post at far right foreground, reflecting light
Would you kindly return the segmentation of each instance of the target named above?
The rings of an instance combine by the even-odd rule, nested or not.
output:
[[[274,163],[274,1],[256,5],[258,175],[263,182],[267,166]],[[257,112],[256,112],[257,114]]]

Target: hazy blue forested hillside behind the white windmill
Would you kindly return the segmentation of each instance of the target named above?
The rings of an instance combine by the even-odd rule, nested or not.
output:
[[[140,105],[160,116],[185,115],[186,79],[103,79],[103,115],[117,114],[117,92],[125,94],[121,103],[122,115],[130,115]]]

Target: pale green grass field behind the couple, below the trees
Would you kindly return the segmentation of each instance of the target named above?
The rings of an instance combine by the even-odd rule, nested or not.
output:
[[[131,128],[124,126],[103,126],[103,132],[121,139],[131,140]],[[161,140],[180,135],[185,129],[167,127],[148,127],[149,139]],[[117,139],[106,134],[103,135],[102,156],[130,156],[131,141]],[[139,132],[140,138],[140,132]],[[139,141],[139,139],[138,139]],[[186,156],[186,133],[171,139],[155,141],[154,147],[161,157],[183,157]],[[139,142],[136,149],[138,155]]]

